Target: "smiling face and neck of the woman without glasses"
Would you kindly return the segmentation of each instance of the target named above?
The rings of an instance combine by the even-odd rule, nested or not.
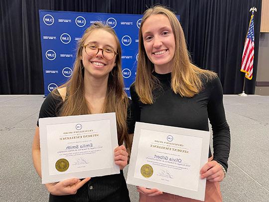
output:
[[[175,38],[170,21],[163,14],[149,16],[142,26],[143,44],[157,73],[172,71]]]

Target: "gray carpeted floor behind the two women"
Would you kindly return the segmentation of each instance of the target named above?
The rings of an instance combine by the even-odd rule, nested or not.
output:
[[[0,95],[0,202],[48,201],[31,160],[42,97]],[[224,105],[232,147],[223,201],[269,202],[269,96],[225,95]],[[129,190],[137,202],[134,186]]]

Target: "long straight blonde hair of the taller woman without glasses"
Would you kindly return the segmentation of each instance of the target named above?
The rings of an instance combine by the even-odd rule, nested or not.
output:
[[[156,5],[148,8],[142,17],[139,29],[138,61],[135,78],[135,91],[144,104],[152,104],[152,90],[158,85],[158,80],[152,72],[154,64],[148,59],[143,43],[142,27],[145,20],[155,14],[167,16],[175,38],[175,54],[173,57],[171,72],[171,88],[174,93],[182,97],[193,97],[202,90],[200,75],[212,79],[216,76],[214,72],[200,69],[191,63],[187,50],[183,29],[175,14],[168,8]]]

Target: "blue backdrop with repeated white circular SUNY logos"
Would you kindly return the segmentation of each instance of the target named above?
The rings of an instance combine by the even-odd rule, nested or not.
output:
[[[113,27],[122,46],[122,73],[130,96],[138,52],[142,15],[39,10],[43,58],[44,94],[65,83],[72,75],[76,45],[83,32],[97,21]]]

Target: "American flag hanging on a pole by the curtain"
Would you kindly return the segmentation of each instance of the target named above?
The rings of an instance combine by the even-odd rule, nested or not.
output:
[[[254,15],[252,14],[250,20],[250,26],[247,34],[247,38],[245,41],[242,63],[241,63],[241,71],[245,72],[245,77],[247,79],[252,79],[253,75],[253,61],[254,61]]]

